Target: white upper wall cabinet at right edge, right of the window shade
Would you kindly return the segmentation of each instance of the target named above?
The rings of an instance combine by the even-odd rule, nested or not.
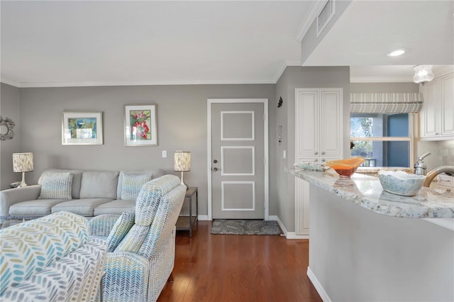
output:
[[[436,77],[422,86],[423,107],[420,138],[451,140],[454,138],[454,73]]]

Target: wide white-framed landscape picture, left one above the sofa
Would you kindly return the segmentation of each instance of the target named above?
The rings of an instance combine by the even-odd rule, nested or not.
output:
[[[102,111],[64,111],[62,145],[103,145]]]

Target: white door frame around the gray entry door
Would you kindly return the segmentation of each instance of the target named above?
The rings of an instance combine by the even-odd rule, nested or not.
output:
[[[265,220],[269,220],[270,218],[270,209],[268,206],[269,203],[269,164],[268,162],[268,99],[207,99],[207,108],[206,108],[206,116],[207,116],[207,164],[206,164],[206,175],[208,177],[208,220],[213,220],[213,213],[211,212],[211,104],[214,103],[262,103],[263,104],[263,144],[264,144],[264,151],[265,151],[265,158],[263,161],[265,162]]]

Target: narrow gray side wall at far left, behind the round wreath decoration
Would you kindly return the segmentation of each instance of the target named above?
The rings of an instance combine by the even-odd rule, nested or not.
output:
[[[16,125],[13,128],[12,140],[0,140],[0,189],[8,189],[9,184],[22,179],[21,173],[13,173],[13,153],[27,152],[21,148],[21,102],[20,90],[14,86],[1,83],[0,115],[11,118]],[[26,173],[28,181],[29,173]]]

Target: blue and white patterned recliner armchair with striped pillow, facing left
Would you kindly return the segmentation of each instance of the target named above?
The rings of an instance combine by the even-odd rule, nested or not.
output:
[[[101,290],[104,301],[156,301],[175,262],[175,223],[186,186],[175,175],[148,181],[135,211],[90,220],[91,235],[106,238],[109,252]]]

